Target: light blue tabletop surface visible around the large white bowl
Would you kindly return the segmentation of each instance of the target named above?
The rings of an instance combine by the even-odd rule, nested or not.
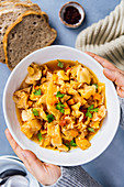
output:
[[[78,0],[86,11],[83,24],[76,30],[65,28],[58,18],[60,7],[67,0],[33,0],[49,15],[49,23],[57,30],[58,36],[54,44],[75,47],[75,41],[80,31],[108,15],[120,0]],[[0,64],[0,155],[14,155],[5,136],[5,122],[2,112],[2,95],[10,75],[4,64]],[[97,160],[84,164],[83,168],[104,187],[124,187],[124,131],[117,133],[108,150]]]

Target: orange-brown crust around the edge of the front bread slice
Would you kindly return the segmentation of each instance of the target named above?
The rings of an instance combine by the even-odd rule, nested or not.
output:
[[[30,14],[43,15],[43,16],[46,15],[45,12],[35,12],[35,11],[30,11],[30,10],[29,10],[29,11],[24,12],[23,14],[21,14],[21,15],[18,18],[18,20],[7,29],[5,34],[4,34],[4,36],[3,36],[3,50],[4,50],[4,56],[5,56],[5,64],[7,64],[7,66],[9,67],[10,70],[12,70],[13,68],[9,66],[9,62],[8,62],[8,51],[7,51],[7,47],[8,47],[8,36],[9,36],[9,33],[12,31],[12,29],[13,29],[16,24],[19,24],[20,22],[23,21],[23,18],[24,18],[24,16],[30,15]],[[57,37],[57,32],[56,32],[56,30],[54,30],[53,28],[49,26],[49,24],[48,24],[47,21],[46,21],[46,23],[47,23],[47,26],[50,29],[50,31],[52,31],[53,33],[55,33],[55,36],[53,37],[53,40],[49,41],[49,43],[48,43],[47,45],[45,45],[45,46],[49,46],[49,45],[56,40],[56,37]]]

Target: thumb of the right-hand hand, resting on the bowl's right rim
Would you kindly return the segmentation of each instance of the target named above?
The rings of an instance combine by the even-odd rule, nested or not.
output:
[[[103,74],[105,75],[106,78],[114,81],[116,86],[124,87],[124,75],[121,74],[119,70],[111,70],[111,69],[104,68]]]

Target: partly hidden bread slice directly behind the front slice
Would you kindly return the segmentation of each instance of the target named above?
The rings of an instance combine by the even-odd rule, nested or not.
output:
[[[4,51],[3,51],[3,36],[8,26],[10,26],[18,19],[19,15],[26,12],[27,10],[40,12],[41,9],[37,4],[31,3],[10,3],[10,9],[3,9],[0,11],[0,62],[5,63]]]

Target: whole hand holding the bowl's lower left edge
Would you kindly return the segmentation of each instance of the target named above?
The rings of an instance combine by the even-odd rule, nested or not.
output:
[[[41,162],[34,153],[27,150],[21,148],[14,141],[9,130],[5,130],[5,136],[13,148],[14,153],[24,163],[27,170],[42,184],[54,185],[60,177],[60,167],[53,164]]]

